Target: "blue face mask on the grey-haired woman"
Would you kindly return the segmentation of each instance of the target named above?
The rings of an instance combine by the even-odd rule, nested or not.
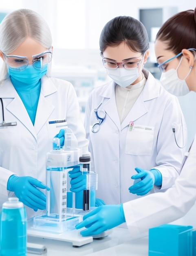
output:
[[[29,65],[25,70],[13,70],[8,66],[8,73],[17,82],[27,85],[35,85],[46,74],[48,64],[44,65],[42,69],[36,69],[33,65]]]

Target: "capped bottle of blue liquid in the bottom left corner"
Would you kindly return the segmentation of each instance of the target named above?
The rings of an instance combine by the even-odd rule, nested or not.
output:
[[[1,256],[26,256],[26,221],[24,204],[18,198],[8,198],[1,211]]]

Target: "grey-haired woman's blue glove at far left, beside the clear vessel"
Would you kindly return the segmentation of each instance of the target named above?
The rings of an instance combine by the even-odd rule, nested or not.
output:
[[[20,202],[33,208],[34,211],[46,209],[46,195],[37,188],[50,190],[42,182],[30,176],[11,175],[7,182],[7,190],[13,191]]]

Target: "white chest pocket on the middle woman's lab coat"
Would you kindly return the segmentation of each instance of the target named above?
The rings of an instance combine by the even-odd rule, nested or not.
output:
[[[125,153],[129,155],[151,155],[154,127],[134,125],[128,129]]]

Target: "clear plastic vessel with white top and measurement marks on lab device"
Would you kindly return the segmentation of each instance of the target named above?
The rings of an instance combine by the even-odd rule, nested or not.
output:
[[[64,147],[59,147],[59,139],[53,139],[53,150],[46,154],[46,216],[65,220],[67,213],[68,171],[79,168],[80,150],[77,139],[69,128],[65,129]],[[54,142],[55,141],[55,142]]]

